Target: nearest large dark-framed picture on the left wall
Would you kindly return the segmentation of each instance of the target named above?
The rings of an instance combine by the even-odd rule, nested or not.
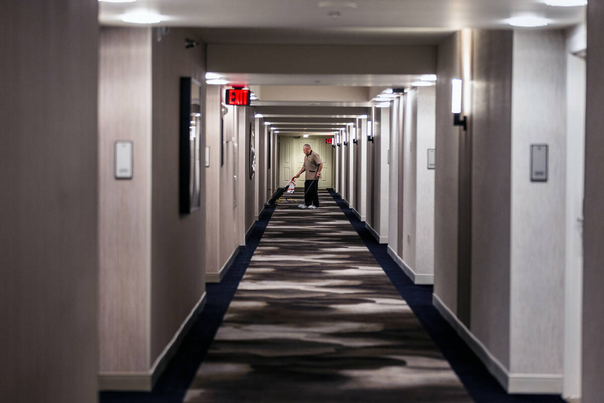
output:
[[[179,130],[179,210],[190,214],[201,207],[202,86],[181,77]]]

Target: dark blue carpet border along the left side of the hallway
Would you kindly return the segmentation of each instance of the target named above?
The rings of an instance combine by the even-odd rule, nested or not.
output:
[[[159,377],[152,392],[99,392],[100,403],[181,403],[233,300],[237,286],[260,243],[274,208],[265,208],[220,283],[207,283],[204,309],[194,320],[175,356]]]

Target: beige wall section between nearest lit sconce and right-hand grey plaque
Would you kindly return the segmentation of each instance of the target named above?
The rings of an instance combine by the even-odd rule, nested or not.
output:
[[[474,31],[473,98],[470,328],[509,368],[512,31]]]

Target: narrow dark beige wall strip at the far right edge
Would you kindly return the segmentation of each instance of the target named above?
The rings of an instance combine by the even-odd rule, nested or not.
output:
[[[585,226],[583,227],[583,403],[602,401],[604,344],[604,1],[587,6],[587,114],[585,135]]]

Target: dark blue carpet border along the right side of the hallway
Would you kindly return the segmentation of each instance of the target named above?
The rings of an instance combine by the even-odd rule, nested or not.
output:
[[[467,392],[478,403],[565,403],[559,395],[508,395],[499,382],[490,375],[482,361],[464,343],[457,332],[432,305],[431,285],[415,285],[396,262],[388,255],[388,246],[380,244],[348,208],[342,198],[328,189],[335,202],[342,209],[350,224],[355,227],[373,257],[382,266],[401,297],[410,306],[423,328],[451,364],[461,379]]]

